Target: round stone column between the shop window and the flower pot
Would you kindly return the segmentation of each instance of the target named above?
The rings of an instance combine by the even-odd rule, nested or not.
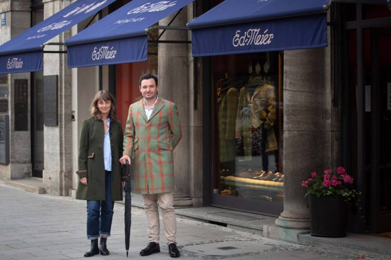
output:
[[[331,166],[329,49],[284,52],[284,211],[264,235],[297,242],[310,228],[301,182]]]

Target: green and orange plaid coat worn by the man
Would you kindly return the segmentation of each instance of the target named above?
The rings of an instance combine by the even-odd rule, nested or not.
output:
[[[124,152],[131,157],[134,191],[174,191],[173,150],[182,138],[177,105],[159,98],[147,119],[143,100],[129,107]]]

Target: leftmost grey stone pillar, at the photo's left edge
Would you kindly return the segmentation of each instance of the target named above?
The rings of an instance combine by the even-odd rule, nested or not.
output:
[[[4,44],[19,35],[21,32],[30,28],[30,0],[8,0],[0,1],[0,13],[6,15],[6,25],[2,25],[0,30],[0,44]],[[26,129],[15,131],[15,79],[27,80],[26,99],[27,99],[27,121]],[[31,177],[31,92],[30,92],[30,73],[15,73],[7,75],[8,82],[8,114],[10,125],[10,163],[0,165],[0,177],[7,179],[21,179]]]

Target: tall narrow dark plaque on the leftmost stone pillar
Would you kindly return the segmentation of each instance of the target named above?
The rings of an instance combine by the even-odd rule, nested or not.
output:
[[[27,79],[15,79],[15,98],[14,98],[14,124],[15,131],[29,130],[29,91],[27,90]]]

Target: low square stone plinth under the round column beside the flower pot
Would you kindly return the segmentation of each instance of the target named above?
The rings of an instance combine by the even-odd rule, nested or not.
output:
[[[308,229],[288,229],[282,228],[277,225],[264,225],[263,226],[263,236],[271,239],[279,239],[288,242],[298,243],[299,235],[308,234],[310,230]]]

